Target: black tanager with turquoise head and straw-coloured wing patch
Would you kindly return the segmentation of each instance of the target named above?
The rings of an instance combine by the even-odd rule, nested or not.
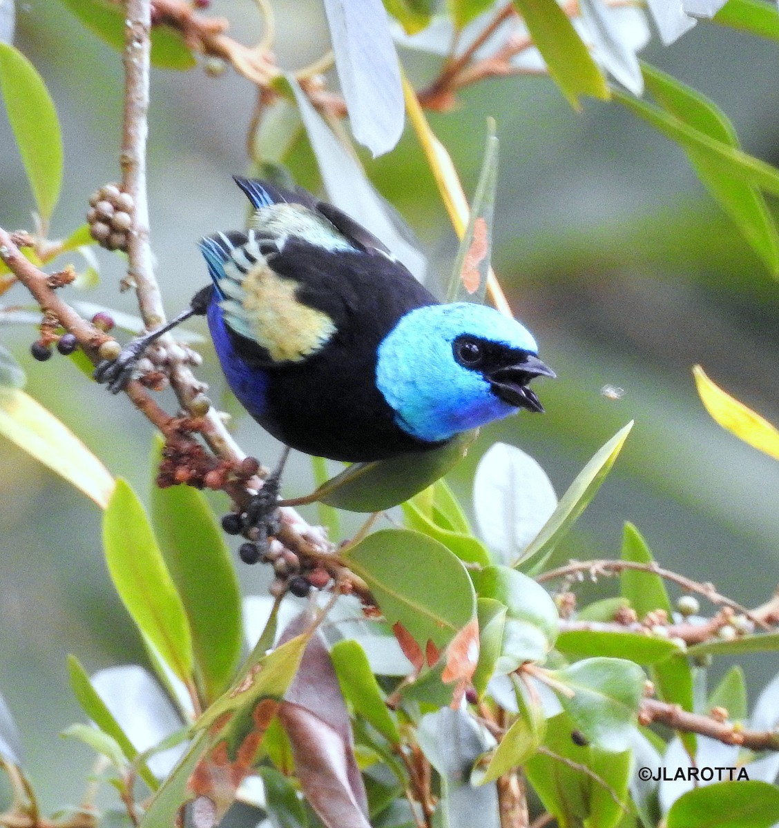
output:
[[[199,313],[241,405],[308,455],[385,460],[544,411],[529,383],[554,372],[519,321],[441,303],[378,238],[306,190],[234,178],[253,209],[249,228],[201,239],[211,285],[99,365],[112,391],[152,339]]]

